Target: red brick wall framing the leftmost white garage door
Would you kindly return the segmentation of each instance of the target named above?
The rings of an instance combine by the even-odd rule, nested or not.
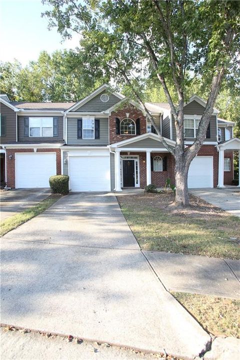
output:
[[[15,188],[15,153],[34,152],[33,148],[6,149],[6,186]],[[56,174],[61,174],[61,150],[57,148],[37,148],[36,152],[56,153]],[[9,158],[9,156],[11,158]],[[30,169],[29,169],[30,171]]]

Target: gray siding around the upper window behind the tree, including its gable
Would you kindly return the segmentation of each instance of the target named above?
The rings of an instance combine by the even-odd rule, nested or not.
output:
[[[186,106],[184,106],[184,115],[202,115],[204,110],[204,107],[201,106],[198,102],[196,101],[191,101],[189,104],[187,104]],[[174,123],[174,118],[173,116],[172,118],[172,140],[176,139],[176,128],[175,128],[175,123]],[[216,116],[212,115],[210,117],[210,138],[206,138],[205,141],[216,141],[216,133],[217,133],[217,129],[216,129]],[[185,141],[193,141],[194,138],[192,137],[186,137]]]

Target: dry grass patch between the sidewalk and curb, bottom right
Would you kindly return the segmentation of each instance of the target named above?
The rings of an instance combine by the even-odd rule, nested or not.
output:
[[[215,336],[240,337],[240,300],[172,292],[201,326]]]

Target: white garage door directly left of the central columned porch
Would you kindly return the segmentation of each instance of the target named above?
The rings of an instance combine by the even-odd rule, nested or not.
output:
[[[109,191],[110,160],[107,156],[69,156],[72,191]]]

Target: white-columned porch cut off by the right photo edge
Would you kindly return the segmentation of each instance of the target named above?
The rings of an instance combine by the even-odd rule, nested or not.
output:
[[[224,171],[227,163],[224,158],[224,151],[238,151],[238,159],[240,159],[240,139],[232,138],[225,142],[216,145],[218,151],[218,184],[217,187],[225,187],[224,185]],[[233,166],[233,164],[232,164]],[[238,160],[238,187],[240,187],[240,176],[239,176],[239,160]]]

